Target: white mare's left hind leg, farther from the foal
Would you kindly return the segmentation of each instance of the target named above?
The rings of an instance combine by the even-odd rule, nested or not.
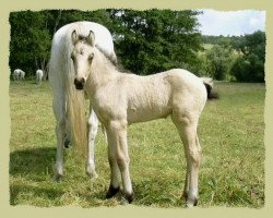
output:
[[[66,102],[64,95],[54,96],[54,113],[56,117],[57,155],[55,166],[55,179],[63,175],[63,142],[66,136]]]

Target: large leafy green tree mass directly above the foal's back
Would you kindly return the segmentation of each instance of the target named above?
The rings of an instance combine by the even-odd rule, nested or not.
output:
[[[117,22],[116,48],[124,68],[152,74],[171,68],[191,68],[201,49],[195,11],[110,10]]]

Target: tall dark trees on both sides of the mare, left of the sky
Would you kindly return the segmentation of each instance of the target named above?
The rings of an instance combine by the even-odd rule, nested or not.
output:
[[[10,68],[21,68],[26,76],[46,69],[54,34],[76,21],[93,21],[106,26],[114,36],[119,62],[139,74],[171,68],[195,69],[201,49],[197,11],[170,10],[46,10],[10,14]]]

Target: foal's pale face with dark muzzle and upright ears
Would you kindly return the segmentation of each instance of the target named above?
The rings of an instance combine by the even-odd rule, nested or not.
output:
[[[84,84],[91,72],[91,63],[94,57],[94,40],[95,35],[91,31],[87,37],[78,35],[75,31],[71,34],[71,39],[74,48],[71,52],[73,60],[75,78],[74,84],[76,89],[83,89]]]

